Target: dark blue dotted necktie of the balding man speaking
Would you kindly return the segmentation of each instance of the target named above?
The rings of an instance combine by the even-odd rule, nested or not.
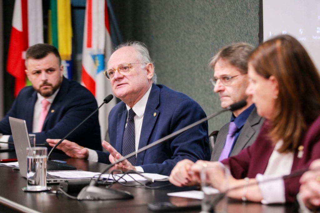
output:
[[[134,116],[136,113],[132,110],[129,110],[129,116],[127,121],[127,126],[125,127],[122,141],[122,155],[126,156],[136,150],[136,142],[134,137]],[[132,166],[136,165],[136,156],[132,156],[128,158],[128,161],[132,164]]]

